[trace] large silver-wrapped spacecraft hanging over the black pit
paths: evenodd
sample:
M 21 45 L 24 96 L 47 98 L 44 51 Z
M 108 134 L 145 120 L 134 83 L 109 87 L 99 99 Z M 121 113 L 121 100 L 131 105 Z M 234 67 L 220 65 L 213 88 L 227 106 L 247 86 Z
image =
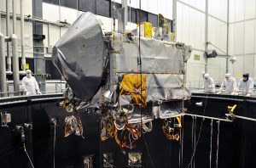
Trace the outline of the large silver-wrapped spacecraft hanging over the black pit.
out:
M 61 105 L 75 112 L 66 120 L 65 136 L 82 135 L 79 111 L 87 111 L 102 115 L 102 140 L 114 137 L 121 148 L 133 147 L 157 118 L 165 120 L 166 137 L 178 140 L 167 134 L 180 128 L 177 117 L 191 96 L 184 65 L 190 53 L 191 47 L 179 42 L 103 32 L 95 14 L 81 14 L 52 54 L 68 84 Z M 130 135 L 133 141 L 128 144 Z

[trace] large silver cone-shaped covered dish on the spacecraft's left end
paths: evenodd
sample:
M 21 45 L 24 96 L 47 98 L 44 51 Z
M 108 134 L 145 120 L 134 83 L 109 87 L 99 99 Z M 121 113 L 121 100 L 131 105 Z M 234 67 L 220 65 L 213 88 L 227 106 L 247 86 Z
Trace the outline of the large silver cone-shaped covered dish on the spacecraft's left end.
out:
M 52 61 L 84 101 L 92 98 L 102 82 L 104 41 L 95 14 L 81 14 L 53 48 Z

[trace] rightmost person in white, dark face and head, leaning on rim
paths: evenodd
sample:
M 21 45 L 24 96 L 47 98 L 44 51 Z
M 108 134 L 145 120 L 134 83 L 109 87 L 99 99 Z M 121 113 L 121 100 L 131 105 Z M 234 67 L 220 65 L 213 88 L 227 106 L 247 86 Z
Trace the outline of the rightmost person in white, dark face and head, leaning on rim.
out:
M 241 90 L 241 95 L 251 97 L 253 94 L 253 87 L 253 78 L 249 77 L 248 73 L 243 74 L 241 80 L 238 82 L 238 89 Z

